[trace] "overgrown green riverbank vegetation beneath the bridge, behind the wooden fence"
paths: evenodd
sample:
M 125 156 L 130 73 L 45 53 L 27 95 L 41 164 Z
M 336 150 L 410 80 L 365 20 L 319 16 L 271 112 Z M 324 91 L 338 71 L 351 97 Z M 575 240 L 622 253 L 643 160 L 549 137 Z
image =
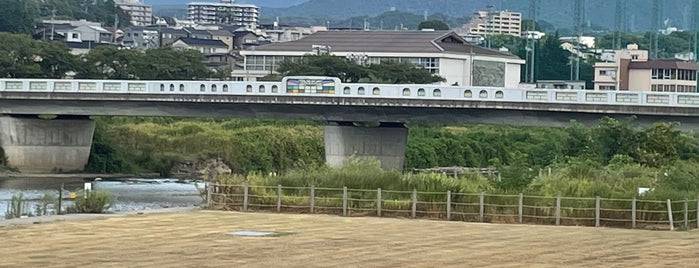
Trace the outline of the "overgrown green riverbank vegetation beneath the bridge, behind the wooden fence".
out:
M 492 176 L 462 174 L 458 182 L 443 176 L 379 173 L 370 162 L 355 162 L 349 169 L 328 169 L 324 166 L 322 125 L 316 122 L 126 117 L 95 120 L 97 129 L 88 165 L 91 172 L 158 171 L 167 175 L 178 161 L 222 158 L 234 173 L 274 172 L 280 177 L 266 180 L 287 186 L 330 183 L 323 178 L 332 177 L 355 181 L 354 187 L 367 189 L 378 184 L 386 188 L 408 183 L 405 185 L 426 188 L 423 191 L 460 187 L 459 192 L 544 196 L 629 198 L 636 195 L 638 187 L 653 188 L 652 196 L 673 200 L 699 194 L 699 145 L 695 135 L 671 123 L 642 128 L 633 118 L 604 118 L 596 126 L 571 123 L 565 128 L 409 126 L 406 171 L 467 166 L 491 167 L 499 172 Z M 360 172 L 367 170 L 370 172 Z

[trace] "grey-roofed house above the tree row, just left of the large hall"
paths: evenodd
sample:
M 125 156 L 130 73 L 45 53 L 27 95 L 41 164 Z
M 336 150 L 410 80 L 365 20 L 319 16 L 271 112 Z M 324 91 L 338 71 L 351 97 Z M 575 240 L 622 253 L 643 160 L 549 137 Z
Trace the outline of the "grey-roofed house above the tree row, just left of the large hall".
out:
M 228 45 L 221 40 L 180 37 L 172 43 L 172 48 L 199 51 L 206 57 L 206 65 L 212 68 L 230 66 L 234 63 Z

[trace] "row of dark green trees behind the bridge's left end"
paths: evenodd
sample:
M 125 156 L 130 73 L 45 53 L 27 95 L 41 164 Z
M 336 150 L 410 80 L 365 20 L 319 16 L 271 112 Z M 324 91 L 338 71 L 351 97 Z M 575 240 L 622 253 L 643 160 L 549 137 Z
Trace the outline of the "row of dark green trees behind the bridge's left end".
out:
M 28 35 L 0 32 L 0 77 L 82 79 L 205 79 L 229 74 L 215 72 L 195 50 L 169 48 L 146 51 L 98 46 L 86 55 L 73 55 L 60 42 L 34 40 Z

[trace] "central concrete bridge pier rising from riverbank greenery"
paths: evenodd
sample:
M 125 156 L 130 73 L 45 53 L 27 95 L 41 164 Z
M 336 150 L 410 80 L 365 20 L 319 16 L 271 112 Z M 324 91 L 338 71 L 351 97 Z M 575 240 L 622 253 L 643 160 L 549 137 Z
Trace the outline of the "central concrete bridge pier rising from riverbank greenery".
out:
M 339 167 L 351 156 L 374 157 L 384 169 L 403 170 L 408 128 L 403 123 L 357 126 L 352 122 L 328 122 L 324 129 L 325 161 Z

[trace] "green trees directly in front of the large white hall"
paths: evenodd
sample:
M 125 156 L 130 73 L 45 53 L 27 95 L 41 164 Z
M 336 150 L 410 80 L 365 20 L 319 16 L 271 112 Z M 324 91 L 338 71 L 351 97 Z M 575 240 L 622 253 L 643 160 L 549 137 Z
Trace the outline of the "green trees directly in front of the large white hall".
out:
M 285 59 L 277 72 L 281 76 L 320 75 L 338 77 L 343 82 L 391 84 L 429 84 L 444 80 L 438 75 L 408 62 L 381 62 L 369 66 L 331 55 L 307 55 L 301 59 Z

